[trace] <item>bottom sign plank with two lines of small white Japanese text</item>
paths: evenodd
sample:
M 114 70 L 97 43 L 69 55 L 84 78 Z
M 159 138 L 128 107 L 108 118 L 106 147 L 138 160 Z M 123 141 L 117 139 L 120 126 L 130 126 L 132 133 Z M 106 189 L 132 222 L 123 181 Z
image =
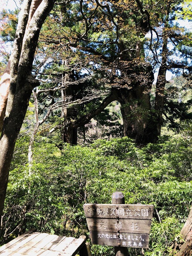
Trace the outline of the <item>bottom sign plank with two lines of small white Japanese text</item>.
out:
M 90 231 L 92 244 L 148 248 L 149 235 Z

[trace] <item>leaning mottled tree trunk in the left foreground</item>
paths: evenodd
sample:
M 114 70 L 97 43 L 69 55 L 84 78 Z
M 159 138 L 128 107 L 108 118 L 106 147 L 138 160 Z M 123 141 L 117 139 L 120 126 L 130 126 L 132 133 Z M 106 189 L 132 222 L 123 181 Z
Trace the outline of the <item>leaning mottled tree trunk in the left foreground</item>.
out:
M 40 29 L 51 11 L 54 2 L 54 0 L 44 0 L 39 5 L 30 21 L 28 30 L 25 31 L 26 35 L 24 36 L 21 52 L 20 54 L 19 52 L 15 53 L 19 56 L 19 61 L 15 61 L 15 63 L 18 62 L 19 64 L 18 68 L 16 64 L 13 65 L 13 69 L 17 69 L 14 100 L 10 114 L 6 120 L 4 120 L 4 128 L 0 138 L 0 216 L 3 212 L 9 168 L 15 142 L 28 108 L 32 90 L 39 84 L 38 81 L 32 77 L 31 70 Z M 19 51 L 18 49 L 20 49 L 19 46 L 15 47 L 13 51 Z

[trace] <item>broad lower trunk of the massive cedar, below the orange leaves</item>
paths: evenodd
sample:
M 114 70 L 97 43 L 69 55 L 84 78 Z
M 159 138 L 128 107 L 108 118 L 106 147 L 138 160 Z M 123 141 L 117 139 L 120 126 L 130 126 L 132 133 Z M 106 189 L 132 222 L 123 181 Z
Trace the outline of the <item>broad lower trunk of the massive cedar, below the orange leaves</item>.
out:
M 149 93 L 136 86 L 134 90 L 119 89 L 118 101 L 121 103 L 124 136 L 140 144 L 154 142 L 153 130 L 150 127 L 151 104 Z

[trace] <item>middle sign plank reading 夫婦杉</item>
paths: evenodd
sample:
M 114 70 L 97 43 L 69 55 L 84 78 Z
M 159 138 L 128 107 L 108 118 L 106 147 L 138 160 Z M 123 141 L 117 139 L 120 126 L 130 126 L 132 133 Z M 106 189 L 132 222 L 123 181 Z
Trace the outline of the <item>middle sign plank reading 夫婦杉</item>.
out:
M 89 231 L 149 234 L 151 220 L 91 219 L 87 218 Z

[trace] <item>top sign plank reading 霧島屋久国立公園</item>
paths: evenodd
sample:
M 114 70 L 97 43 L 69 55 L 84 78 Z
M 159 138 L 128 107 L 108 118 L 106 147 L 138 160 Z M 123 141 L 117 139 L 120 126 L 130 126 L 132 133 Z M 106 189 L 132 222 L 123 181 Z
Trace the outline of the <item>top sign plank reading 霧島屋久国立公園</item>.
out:
M 151 204 L 84 204 L 86 218 L 151 220 Z

